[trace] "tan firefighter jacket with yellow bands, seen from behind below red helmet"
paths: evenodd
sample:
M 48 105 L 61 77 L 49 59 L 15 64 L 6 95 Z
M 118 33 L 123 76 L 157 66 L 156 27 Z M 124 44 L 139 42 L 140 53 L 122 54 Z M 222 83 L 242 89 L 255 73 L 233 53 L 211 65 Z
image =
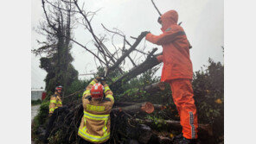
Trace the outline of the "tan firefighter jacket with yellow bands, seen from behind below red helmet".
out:
M 82 97 L 84 116 L 80 122 L 78 135 L 86 141 L 103 143 L 110 137 L 110 112 L 114 103 L 112 91 L 108 85 L 104 85 L 106 97 L 98 101 L 91 97 L 90 89 L 98 81 L 93 81 L 86 87 Z

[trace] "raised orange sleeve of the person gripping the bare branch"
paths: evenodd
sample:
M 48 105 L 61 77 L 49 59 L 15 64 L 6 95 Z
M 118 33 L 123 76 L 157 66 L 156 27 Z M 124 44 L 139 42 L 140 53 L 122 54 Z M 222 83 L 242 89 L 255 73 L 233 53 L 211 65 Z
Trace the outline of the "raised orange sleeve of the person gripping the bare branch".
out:
M 185 34 L 184 31 L 182 31 L 181 28 L 167 28 L 163 34 L 160 35 L 154 35 L 154 34 L 147 34 L 146 35 L 146 40 L 150 41 L 154 44 L 157 45 L 164 45 L 164 44 L 169 44 L 171 41 L 174 41 L 177 36 Z

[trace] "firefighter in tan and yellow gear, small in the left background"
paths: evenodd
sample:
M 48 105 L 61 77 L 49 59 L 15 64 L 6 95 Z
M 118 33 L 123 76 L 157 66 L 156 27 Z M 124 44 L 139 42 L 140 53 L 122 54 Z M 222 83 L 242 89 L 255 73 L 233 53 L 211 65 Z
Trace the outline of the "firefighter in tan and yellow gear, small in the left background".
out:
M 61 85 L 57 86 L 55 88 L 54 95 L 51 96 L 51 99 L 50 99 L 49 116 L 52 116 L 55 109 L 62 107 L 61 92 L 62 92 L 62 86 Z

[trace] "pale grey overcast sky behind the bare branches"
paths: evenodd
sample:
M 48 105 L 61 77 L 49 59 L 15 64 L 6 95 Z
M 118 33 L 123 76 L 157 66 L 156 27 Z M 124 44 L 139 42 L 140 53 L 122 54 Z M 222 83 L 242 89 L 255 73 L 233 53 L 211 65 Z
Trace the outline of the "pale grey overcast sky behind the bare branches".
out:
M 36 40 L 45 40 L 41 34 L 37 34 L 35 29 L 39 22 L 43 21 L 42 1 L 31 1 L 31 49 L 38 48 Z M 161 26 L 157 23 L 157 10 L 153 7 L 150 0 L 83 0 L 86 11 L 95 11 L 97 15 L 93 17 L 92 25 L 95 34 L 106 34 L 106 30 L 102 28 L 103 23 L 106 28 L 118 28 L 127 38 L 130 36 L 137 37 L 143 31 L 150 31 L 152 34 L 161 34 Z M 224 3 L 222 0 L 161 0 L 154 1 L 157 8 L 163 14 L 164 12 L 175 9 L 178 12 L 179 20 L 182 22 L 192 49 L 190 49 L 190 59 L 193 63 L 193 71 L 201 70 L 203 65 L 208 64 L 208 58 L 214 61 L 221 61 L 223 64 L 222 46 L 224 46 Z M 81 5 L 82 3 L 80 3 Z M 78 16 L 79 17 L 79 16 Z M 115 37 L 116 46 L 122 46 L 122 41 Z M 76 25 L 74 29 L 74 39 L 86 45 L 90 49 L 93 47 L 92 36 L 86 32 L 85 28 Z M 134 41 L 128 39 L 131 43 Z M 112 52 L 114 47 L 108 42 L 106 46 Z M 162 52 L 162 47 L 150 44 L 148 41 L 141 41 L 138 49 L 144 49 L 144 52 L 157 47 L 157 53 Z M 79 74 L 95 72 L 96 65 L 93 60 L 93 55 L 86 52 L 80 46 L 73 45 L 71 50 L 74 61 L 72 64 Z M 131 53 L 131 58 L 138 58 L 136 53 Z M 35 57 L 31 54 L 31 88 L 36 89 L 45 87 L 43 79 L 47 72 L 39 68 L 40 57 Z M 138 59 L 138 63 L 144 57 Z M 126 59 L 125 70 L 129 70 L 132 65 Z M 161 75 L 160 68 L 156 75 Z M 90 78 L 91 76 L 80 76 L 80 79 Z

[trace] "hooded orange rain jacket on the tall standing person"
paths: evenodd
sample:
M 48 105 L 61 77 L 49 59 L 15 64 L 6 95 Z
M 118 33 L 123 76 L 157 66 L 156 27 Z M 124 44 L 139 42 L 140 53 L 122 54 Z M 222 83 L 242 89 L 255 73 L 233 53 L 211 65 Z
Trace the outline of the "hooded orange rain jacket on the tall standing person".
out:
M 163 34 L 147 34 L 146 40 L 162 45 L 163 55 L 157 57 L 163 61 L 162 82 L 177 78 L 192 79 L 193 69 L 189 58 L 189 41 L 182 27 L 177 25 L 178 14 L 170 10 L 161 16 Z

